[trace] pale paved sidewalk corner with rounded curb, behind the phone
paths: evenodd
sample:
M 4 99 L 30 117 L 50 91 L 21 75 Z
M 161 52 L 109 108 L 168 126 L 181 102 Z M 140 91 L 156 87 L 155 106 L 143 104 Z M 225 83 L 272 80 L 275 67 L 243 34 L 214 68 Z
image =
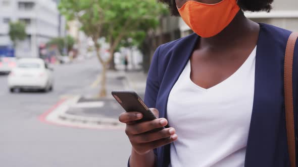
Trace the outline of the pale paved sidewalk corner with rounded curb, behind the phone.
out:
M 100 76 L 91 84 L 90 89 L 78 97 L 66 99 L 64 103 L 46 116 L 45 120 L 66 126 L 80 128 L 124 128 L 118 121 L 124 112 L 111 95 L 113 90 L 134 90 L 144 97 L 146 74 L 142 71 L 108 71 L 107 97 L 96 98 L 100 92 Z

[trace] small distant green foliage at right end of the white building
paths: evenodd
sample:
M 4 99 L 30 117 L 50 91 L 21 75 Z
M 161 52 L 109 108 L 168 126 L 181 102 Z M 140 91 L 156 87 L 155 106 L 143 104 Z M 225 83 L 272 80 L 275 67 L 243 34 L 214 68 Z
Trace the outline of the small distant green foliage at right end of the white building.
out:
M 67 47 L 67 50 L 70 51 L 73 48 L 75 40 L 72 36 L 67 36 L 66 38 L 57 37 L 53 38 L 51 41 L 46 43 L 47 47 L 57 46 L 60 53 L 63 53 L 63 49 Z

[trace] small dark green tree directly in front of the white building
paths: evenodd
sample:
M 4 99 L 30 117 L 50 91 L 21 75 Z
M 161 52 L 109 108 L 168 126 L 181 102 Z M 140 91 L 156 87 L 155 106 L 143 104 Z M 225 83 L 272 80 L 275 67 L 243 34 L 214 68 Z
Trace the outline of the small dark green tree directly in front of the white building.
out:
M 9 36 L 16 47 L 17 41 L 23 41 L 27 37 L 26 25 L 22 22 L 9 23 Z

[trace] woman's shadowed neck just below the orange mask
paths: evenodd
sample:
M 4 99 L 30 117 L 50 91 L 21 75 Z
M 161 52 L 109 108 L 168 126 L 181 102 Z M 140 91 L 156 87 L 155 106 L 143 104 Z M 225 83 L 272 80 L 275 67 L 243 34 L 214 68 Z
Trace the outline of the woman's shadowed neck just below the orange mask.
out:
M 259 24 L 247 19 L 239 11 L 232 22 L 219 34 L 210 38 L 201 38 L 198 48 L 226 49 L 237 46 L 242 39 L 259 33 Z

